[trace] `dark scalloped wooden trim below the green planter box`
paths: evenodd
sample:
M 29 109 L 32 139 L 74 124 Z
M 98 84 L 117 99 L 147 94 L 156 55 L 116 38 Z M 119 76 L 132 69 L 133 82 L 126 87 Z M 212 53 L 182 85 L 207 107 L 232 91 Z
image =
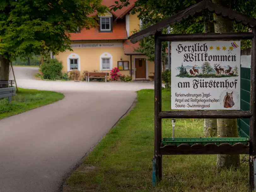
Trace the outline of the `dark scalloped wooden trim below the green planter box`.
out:
M 243 143 L 221 143 L 216 145 L 215 143 L 207 143 L 202 145 L 195 143 L 189 145 L 182 143 L 178 146 L 174 144 L 167 144 L 160 147 L 162 155 L 181 155 L 181 154 L 249 154 L 249 145 Z

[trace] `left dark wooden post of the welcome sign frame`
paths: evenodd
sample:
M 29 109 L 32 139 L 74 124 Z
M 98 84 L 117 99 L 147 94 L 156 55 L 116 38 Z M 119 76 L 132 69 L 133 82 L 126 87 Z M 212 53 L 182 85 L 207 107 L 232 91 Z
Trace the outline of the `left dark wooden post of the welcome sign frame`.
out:
M 154 160 L 156 160 L 156 180 L 162 179 L 162 155 L 160 154 L 160 143 L 162 140 L 162 119 L 159 113 L 162 111 L 162 65 L 161 50 L 162 42 L 158 39 L 161 32 L 155 33 L 155 77 L 154 77 Z M 154 162 L 153 160 L 153 162 Z M 153 166 L 154 167 L 154 166 Z M 154 175 L 153 175 L 154 178 Z M 154 183 L 153 183 L 154 185 Z

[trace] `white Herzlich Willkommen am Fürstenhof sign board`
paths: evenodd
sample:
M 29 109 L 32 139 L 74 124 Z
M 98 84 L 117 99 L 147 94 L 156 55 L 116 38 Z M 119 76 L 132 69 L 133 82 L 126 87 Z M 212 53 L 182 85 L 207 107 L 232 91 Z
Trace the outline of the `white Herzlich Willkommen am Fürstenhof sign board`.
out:
M 172 42 L 172 109 L 240 110 L 240 41 Z

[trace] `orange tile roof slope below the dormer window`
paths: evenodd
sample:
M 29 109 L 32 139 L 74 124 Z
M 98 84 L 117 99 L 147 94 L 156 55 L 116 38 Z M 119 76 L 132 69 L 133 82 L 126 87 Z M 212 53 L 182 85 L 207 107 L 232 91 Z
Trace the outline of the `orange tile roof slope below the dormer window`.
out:
M 124 22 L 113 21 L 113 32 L 99 32 L 98 27 L 89 30 L 81 29 L 80 33 L 70 33 L 70 40 L 124 40 L 127 33 Z

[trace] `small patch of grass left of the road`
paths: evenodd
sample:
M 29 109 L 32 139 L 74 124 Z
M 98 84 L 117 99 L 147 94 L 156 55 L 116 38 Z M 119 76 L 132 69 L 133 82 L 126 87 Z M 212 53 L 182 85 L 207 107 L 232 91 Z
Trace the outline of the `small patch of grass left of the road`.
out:
M 64 98 L 62 93 L 18 88 L 12 102 L 8 98 L 0 100 L 0 119 L 48 105 Z

